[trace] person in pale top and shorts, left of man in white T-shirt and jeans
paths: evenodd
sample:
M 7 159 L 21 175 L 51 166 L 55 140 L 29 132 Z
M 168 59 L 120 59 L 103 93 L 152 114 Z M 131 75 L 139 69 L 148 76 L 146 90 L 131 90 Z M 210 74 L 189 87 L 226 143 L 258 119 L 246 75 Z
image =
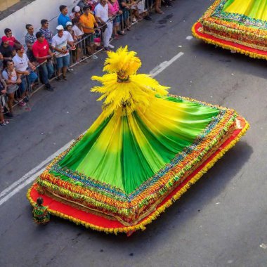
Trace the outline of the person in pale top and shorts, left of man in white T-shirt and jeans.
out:
M 13 102 L 15 91 L 18 90 L 18 84 L 21 83 L 20 74 L 15 72 L 14 63 L 12 60 L 6 60 L 6 68 L 2 72 L 3 78 L 6 81 L 6 94 L 8 96 L 8 109 L 10 117 L 13 117 Z

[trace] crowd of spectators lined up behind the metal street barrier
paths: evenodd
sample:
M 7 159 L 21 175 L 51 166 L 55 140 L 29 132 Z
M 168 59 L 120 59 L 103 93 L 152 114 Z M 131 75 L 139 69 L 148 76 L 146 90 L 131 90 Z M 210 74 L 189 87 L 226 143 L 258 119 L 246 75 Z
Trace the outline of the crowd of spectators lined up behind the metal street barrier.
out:
M 35 33 L 36 25 L 25 25 L 26 53 L 12 30 L 6 28 L 0 45 L 0 126 L 9 123 L 5 117 L 13 117 L 15 103 L 26 105 L 29 92 L 40 81 L 47 91 L 53 91 L 51 77 L 67 80 L 67 71 L 72 72 L 70 63 L 84 62 L 96 53 L 100 44 L 110 51 L 114 48 L 110 44 L 112 35 L 113 39 L 119 39 L 119 35 L 126 34 L 125 30 L 131 30 L 133 22 L 142 18 L 151 20 L 148 8 L 153 4 L 155 12 L 162 14 L 161 1 L 81 0 L 70 14 L 67 6 L 61 5 L 56 34 L 49 29 L 47 19 L 41 20 L 41 27 Z M 164 3 L 170 6 L 170 1 Z

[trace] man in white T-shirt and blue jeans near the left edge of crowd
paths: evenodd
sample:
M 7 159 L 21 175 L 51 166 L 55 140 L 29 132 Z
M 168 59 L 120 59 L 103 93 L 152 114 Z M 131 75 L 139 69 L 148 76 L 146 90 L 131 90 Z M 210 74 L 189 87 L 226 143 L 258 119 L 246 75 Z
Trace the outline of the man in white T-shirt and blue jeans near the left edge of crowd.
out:
M 23 46 L 18 47 L 17 49 L 17 55 L 14 56 L 13 62 L 15 65 L 15 71 L 18 74 L 22 74 L 21 76 L 21 84 L 20 84 L 20 93 L 23 97 L 25 94 L 25 101 L 27 102 L 28 99 L 28 92 L 32 91 L 32 86 L 34 82 L 37 81 L 37 74 L 34 72 L 36 70 L 36 67 L 30 63 L 29 58 L 27 58 L 27 55 L 24 53 Z M 29 88 L 27 88 L 29 86 Z

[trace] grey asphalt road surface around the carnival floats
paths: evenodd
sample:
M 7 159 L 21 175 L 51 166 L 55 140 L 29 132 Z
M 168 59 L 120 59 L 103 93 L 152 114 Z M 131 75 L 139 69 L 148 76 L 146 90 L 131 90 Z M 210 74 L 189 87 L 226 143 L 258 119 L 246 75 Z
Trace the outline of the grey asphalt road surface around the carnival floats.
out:
M 39 227 L 27 185 L 0 206 L 0 266 L 267 266 L 266 61 L 186 39 L 209 0 L 176 0 L 126 37 L 141 72 L 178 58 L 157 75 L 171 93 L 234 108 L 251 124 L 247 135 L 180 200 L 143 232 L 106 235 L 53 217 Z M 90 92 L 105 53 L 80 64 L 68 82 L 39 91 L 30 112 L 0 129 L 0 191 L 79 136 L 101 112 Z

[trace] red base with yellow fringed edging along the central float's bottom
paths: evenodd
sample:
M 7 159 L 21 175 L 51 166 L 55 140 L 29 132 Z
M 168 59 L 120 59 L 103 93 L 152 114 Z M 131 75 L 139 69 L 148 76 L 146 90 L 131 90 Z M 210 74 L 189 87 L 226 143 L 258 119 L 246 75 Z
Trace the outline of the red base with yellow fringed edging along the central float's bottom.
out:
M 183 183 L 178 185 L 172 193 L 170 193 L 165 199 L 159 203 L 155 211 L 152 211 L 148 216 L 146 216 L 142 221 L 136 223 L 133 226 L 123 226 L 119 221 L 113 221 L 105 219 L 103 216 L 97 216 L 91 214 L 90 212 L 82 211 L 80 209 L 74 209 L 73 207 L 57 202 L 51 197 L 42 195 L 44 198 L 44 204 L 48 205 L 48 211 L 50 214 L 61 217 L 63 219 L 70 220 L 77 225 L 83 225 L 86 228 L 91 228 L 93 230 L 103 231 L 105 233 L 133 233 L 136 230 L 145 230 L 145 226 L 151 223 L 153 220 L 157 219 L 162 212 L 171 206 L 178 198 L 185 193 L 191 185 L 197 182 L 200 177 L 205 174 L 218 159 L 223 157 L 223 155 L 232 148 L 237 141 L 245 134 L 247 129 L 249 129 L 249 124 L 242 117 L 237 118 L 240 122 L 241 129 L 235 129 L 232 136 L 228 138 L 221 147 L 214 152 L 200 167 L 198 167 L 193 174 L 190 174 Z M 32 187 L 27 191 L 27 199 L 30 201 L 32 206 L 34 206 L 39 193 L 36 190 L 37 184 L 32 185 Z

